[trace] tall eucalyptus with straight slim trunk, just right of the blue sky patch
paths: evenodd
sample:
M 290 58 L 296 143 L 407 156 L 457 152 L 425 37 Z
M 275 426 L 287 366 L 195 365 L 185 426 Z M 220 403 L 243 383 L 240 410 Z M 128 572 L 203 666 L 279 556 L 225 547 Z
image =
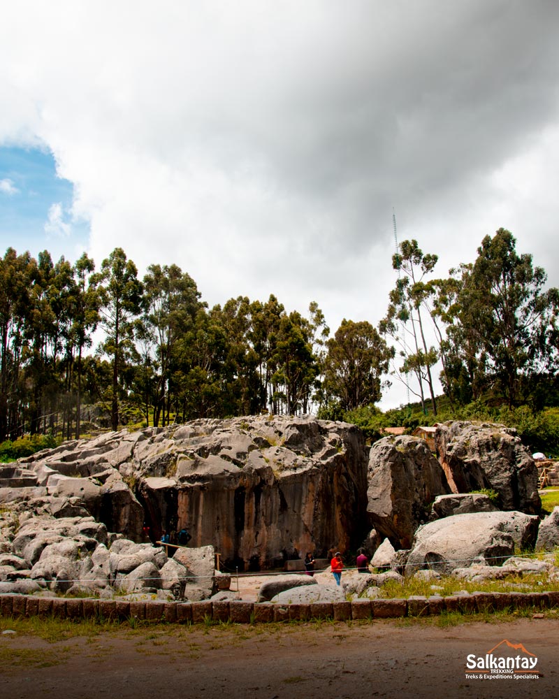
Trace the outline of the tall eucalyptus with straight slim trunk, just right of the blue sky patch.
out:
M 124 370 L 126 356 L 134 351 L 134 320 L 143 306 L 143 284 L 138 280 L 138 270 L 133 261 L 126 258 L 122 247 L 115 247 L 101 263 L 101 271 L 94 275 L 99 284 L 101 298 L 101 325 L 106 339 L 101 350 L 112 361 L 111 426 L 119 423 L 119 376 Z

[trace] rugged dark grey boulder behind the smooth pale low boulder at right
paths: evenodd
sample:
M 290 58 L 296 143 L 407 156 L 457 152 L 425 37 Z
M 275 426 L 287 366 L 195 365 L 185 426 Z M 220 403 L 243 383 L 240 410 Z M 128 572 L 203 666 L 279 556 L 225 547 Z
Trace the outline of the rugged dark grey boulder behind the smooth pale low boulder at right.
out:
M 499 493 L 502 510 L 539 512 L 537 468 L 516 430 L 445 422 L 437 425 L 435 445 L 453 493 L 492 489 Z

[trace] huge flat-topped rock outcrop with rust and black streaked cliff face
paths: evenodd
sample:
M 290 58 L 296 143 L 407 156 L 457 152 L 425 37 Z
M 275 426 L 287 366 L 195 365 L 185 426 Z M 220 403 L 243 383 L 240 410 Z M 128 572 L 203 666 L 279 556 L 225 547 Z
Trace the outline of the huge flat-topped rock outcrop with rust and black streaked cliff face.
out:
M 257 570 L 307 551 L 356 548 L 366 526 L 367 455 L 355 426 L 312 418 L 196 420 L 71 440 L 0 480 L 0 502 L 82 508 L 141 542 L 187 526 L 226 568 Z

